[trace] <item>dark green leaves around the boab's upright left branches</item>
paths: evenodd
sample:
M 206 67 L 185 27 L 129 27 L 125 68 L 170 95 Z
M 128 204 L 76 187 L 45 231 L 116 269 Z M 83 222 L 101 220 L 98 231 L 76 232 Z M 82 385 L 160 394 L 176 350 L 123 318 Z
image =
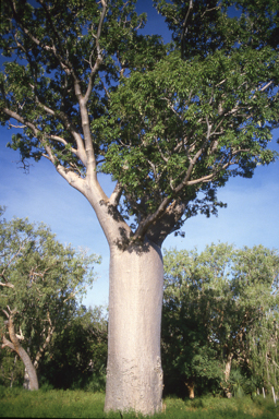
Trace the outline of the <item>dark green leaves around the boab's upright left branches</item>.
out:
M 33 122 L 25 128 L 24 136 L 13 137 L 12 146 L 21 148 L 23 158 L 35 159 L 50 146 L 53 163 L 74 167 L 80 173 L 83 164 L 72 148 L 77 133 L 82 134 L 74 83 L 78 80 L 80 95 L 85 94 L 94 77 L 87 105 L 89 118 L 98 118 L 108 106 L 104 83 L 116 84 L 128 67 L 144 63 L 148 68 L 162 47 L 156 36 L 136 35 L 135 28 L 144 25 L 146 16 L 135 14 L 134 1 L 112 1 L 107 13 L 96 1 L 37 3 L 34 8 L 28 2 L 11 1 L 1 11 L 3 55 L 20 58 L 20 62 L 5 63 L 3 106 L 9 104 L 10 111 L 20 110 L 21 118 Z M 97 68 L 99 74 L 95 74 Z M 96 153 L 98 147 L 96 144 Z

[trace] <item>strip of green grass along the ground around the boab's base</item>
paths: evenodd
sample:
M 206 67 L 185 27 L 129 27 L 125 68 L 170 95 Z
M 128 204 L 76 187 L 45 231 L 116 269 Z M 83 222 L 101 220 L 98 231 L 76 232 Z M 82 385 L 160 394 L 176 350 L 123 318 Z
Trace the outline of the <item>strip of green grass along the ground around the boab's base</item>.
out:
M 104 393 L 84 391 L 39 390 L 0 387 L 0 417 L 17 418 L 107 418 L 121 419 L 120 414 L 104 414 Z M 241 399 L 199 397 L 182 400 L 175 397 L 165 399 L 166 411 L 154 419 L 279 419 L 279 406 L 272 399 L 258 396 Z M 141 418 L 141 415 L 125 414 L 123 419 Z

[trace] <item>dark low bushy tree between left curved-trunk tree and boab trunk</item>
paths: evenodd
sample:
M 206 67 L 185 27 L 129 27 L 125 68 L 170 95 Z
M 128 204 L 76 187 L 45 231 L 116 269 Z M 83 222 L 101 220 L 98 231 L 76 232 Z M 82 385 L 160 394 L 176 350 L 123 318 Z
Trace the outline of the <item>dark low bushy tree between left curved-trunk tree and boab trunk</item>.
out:
M 81 307 L 41 361 L 43 380 L 57 388 L 105 391 L 108 322 L 102 308 Z

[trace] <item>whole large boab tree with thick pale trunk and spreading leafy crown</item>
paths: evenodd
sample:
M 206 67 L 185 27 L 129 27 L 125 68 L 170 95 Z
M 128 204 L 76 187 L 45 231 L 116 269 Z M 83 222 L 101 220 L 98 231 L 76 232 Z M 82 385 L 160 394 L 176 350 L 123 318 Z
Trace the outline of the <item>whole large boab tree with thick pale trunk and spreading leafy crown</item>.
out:
M 161 408 L 165 238 L 218 205 L 230 176 L 275 159 L 276 1 L 158 0 L 174 43 L 138 31 L 135 0 L 2 4 L 2 122 L 92 204 L 110 247 L 106 410 Z M 230 17 L 229 8 L 239 8 Z M 12 60 L 11 60 L 12 58 Z M 112 176 L 110 196 L 98 171 Z

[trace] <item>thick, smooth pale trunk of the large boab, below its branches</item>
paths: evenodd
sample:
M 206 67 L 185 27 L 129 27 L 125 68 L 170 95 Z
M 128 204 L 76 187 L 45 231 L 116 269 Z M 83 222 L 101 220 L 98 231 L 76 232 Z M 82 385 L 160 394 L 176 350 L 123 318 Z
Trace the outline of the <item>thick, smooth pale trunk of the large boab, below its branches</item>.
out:
M 106 411 L 161 411 L 162 286 L 158 247 L 111 247 Z

